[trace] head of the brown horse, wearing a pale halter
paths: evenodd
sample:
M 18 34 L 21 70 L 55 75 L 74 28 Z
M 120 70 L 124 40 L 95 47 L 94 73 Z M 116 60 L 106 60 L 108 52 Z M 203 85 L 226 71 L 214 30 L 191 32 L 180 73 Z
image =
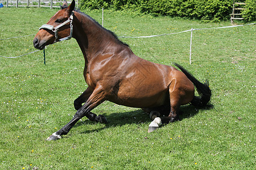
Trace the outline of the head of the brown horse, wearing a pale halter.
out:
M 37 49 L 44 49 L 46 45 L 53 44 L 57 41 L 69 40 L 73 32 L 73 10 L 75 8 L 75 1 L 71 5 L 64 1 L 61 10 L 59 10 L 47 24 L 39 28 L 38 33 L 34 38 L 34 46 Z

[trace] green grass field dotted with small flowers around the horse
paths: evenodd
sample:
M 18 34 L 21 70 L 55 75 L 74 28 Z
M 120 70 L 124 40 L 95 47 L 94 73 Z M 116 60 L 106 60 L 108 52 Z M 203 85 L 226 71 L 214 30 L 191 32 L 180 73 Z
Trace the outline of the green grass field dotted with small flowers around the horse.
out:
M 0 39 L 31 35 L 57 10 L 1 8 Z M 101 23 L 100 11 L 84 11 Z M 135 16 L 105 11 L 104 26 L 118 36 L 146 36 L 213 28 L 230 22 Z M 58 141 L 45 141 L 71 120 L 73 100 L 86 88 L 84 58 L 75 39 L 20 58 L 0 57 L 0 169 L 255 169 L 256 25 L 150 39 L 122 39 L 137 56 L 177 62 L 209 79 L 213 108 L 181 107 L 180 121 L 148 134 L 138 108 L 105 101 L 93 110 L 109 124 L 82 118 Z M 32 52 L 34 36 L 0 40 L 0 56 Z

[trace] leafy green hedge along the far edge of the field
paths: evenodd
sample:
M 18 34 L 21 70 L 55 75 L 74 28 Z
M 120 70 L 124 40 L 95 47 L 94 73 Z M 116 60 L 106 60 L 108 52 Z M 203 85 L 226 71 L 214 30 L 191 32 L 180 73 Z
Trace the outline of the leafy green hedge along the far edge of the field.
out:
M 244 1 L 240 1 L 244 2 Z M 246 20 L 255 20 L 255 0 L 246 0 Z M 135 10 L 142 14 L 168 15 L 180 18 L 212 20 L 229 20 L 233 0 L 81 0 L 80 8 Z

